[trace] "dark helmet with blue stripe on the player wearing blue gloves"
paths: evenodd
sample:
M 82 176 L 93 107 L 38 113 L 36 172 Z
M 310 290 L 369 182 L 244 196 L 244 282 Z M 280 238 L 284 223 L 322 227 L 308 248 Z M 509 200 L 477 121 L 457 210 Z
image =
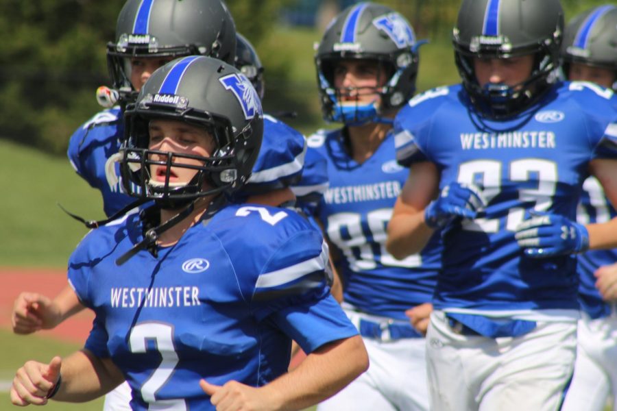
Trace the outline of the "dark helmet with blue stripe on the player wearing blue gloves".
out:
M 452 31 L 455 62 L 463 86 L 480 114 L 491 118 L 525 110 L 547 88 L 559 66 L 564 11 L 559 0 L 463 0 Z M 481 87 L 474 58 L 534 55 L 532 73 L 516 86 Z

